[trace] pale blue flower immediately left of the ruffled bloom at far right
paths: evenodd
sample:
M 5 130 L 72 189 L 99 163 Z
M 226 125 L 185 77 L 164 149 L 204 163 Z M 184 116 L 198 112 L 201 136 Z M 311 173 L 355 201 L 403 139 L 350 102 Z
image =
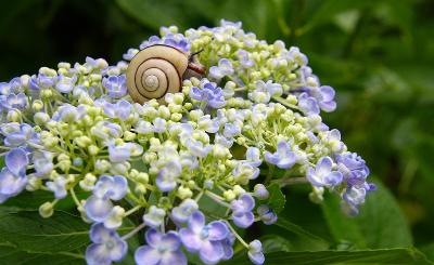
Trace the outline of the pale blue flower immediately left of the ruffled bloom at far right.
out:
M 342 183 L 343 175 L 339 171 L 332 171 L 333 160 L 330 157 L 321 157 L 316 168 L 307 169 L 306 177 L 316 187 L 334 187 Z

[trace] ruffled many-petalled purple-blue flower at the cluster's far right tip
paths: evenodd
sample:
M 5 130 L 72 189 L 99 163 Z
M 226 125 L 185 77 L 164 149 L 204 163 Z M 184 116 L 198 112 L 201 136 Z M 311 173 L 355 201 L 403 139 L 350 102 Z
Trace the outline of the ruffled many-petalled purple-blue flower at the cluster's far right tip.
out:
M 336 156 L 337 170 L 349 185 L 360 185 L 369 175 L 365 160 L 356 153 L 345 153 Z

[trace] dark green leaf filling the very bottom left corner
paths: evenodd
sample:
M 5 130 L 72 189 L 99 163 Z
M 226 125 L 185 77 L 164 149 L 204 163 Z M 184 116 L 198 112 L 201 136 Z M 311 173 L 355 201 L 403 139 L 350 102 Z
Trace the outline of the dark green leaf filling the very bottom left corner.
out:
M 0 261 L 3 265 L 84 265 L 85 261 L 74 253 L 29 253 L 13 246 L 0 244 Z

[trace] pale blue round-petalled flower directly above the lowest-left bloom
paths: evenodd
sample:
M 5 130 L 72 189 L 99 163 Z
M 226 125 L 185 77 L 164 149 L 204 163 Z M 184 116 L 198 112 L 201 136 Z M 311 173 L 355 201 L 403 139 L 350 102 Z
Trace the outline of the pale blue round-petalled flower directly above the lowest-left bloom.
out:
M 93 187 L 93 195 L 85 203 L 88 217 L 94 222 L 103 223 L 113 209 L 111 200 L 120 200 L 128 190 L 128 183 L 124 176 L 102 175 Z

